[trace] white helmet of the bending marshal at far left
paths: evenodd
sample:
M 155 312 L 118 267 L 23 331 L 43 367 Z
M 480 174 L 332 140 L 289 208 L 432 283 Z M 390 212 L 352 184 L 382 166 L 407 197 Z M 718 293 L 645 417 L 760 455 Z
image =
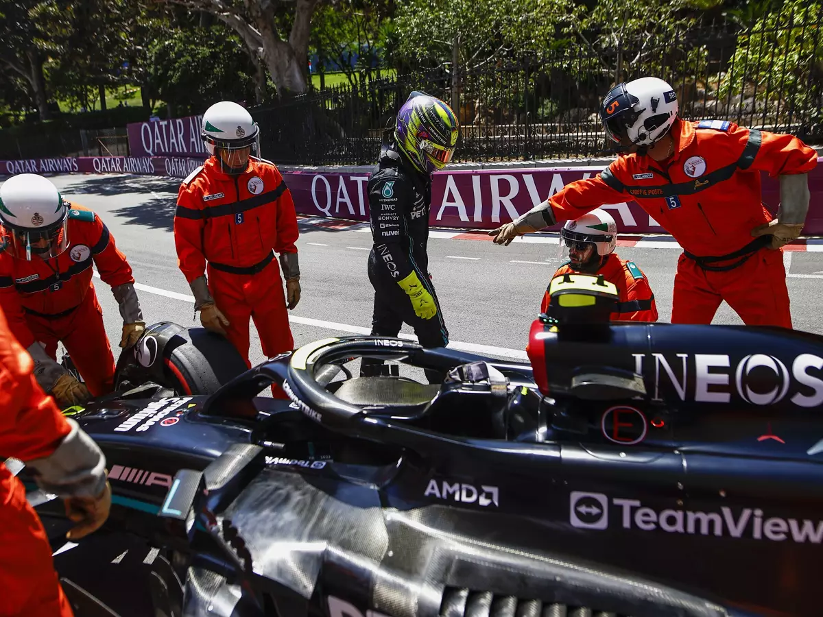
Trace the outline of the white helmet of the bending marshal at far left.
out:
M 68 203 L 41 175 L 19 174 L 2 184 L 0 224 L 14 257 L 57 257 L 68 248 Z

